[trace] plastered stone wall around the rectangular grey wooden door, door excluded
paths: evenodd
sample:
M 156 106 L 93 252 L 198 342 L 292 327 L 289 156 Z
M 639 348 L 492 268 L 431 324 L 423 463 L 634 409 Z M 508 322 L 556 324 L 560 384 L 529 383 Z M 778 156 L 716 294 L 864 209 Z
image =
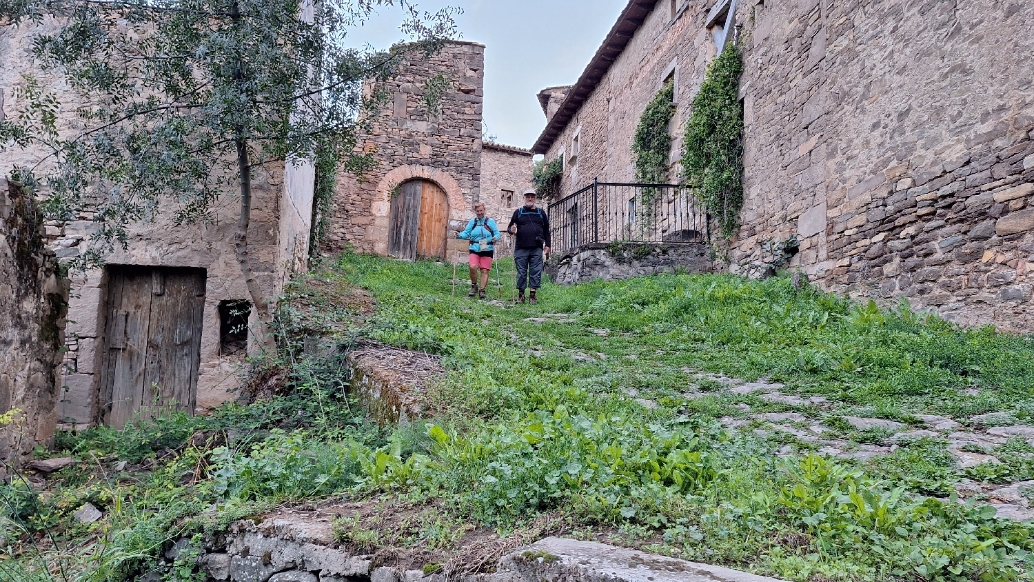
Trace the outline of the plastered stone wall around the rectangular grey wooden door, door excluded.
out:
M 40 26 L 0 28 L 0 54 L 10 58 L 0 63 L 0 90 L 7 115 L 24 103 L 14 97 L 24 83 L 23 75 L 33 72 L 49 90 L 60 96 L 59 130 L 63 135 L 81 130 L 75 115 L 77 93 L 58 76 L 38 72 L 33 62 L 31 43 L 41 33 L 53 33 L 57 25 L 43 19 Z M 0 151 L 0 175 L 6 176 L 17 165 L 33 165 L 45 152 L 36 148 L 8 147 Z M 45 165 L 41 166 L 45 173 Z M 308 163 L 271 163 L 252 171 L 253 200 L 248 242 L 256 280 L 274 299 L 285 281 L 306 269 L 309 227 L 312 215 L 314 173 Z M 45 192 L 40 192 L 45 193 Z M 234 250 L 234 232 L 240 197 L 231 191 L 212 205 L 211 221 L 204 224 L 177 225 L 172 215 L 176 203 L 159 202 L 153 221 L 132 224 L 125 248 L 117 248 L 104 257 L 107 265 L 152 267 L 193 267 L 206 270 L 206 297 L 202 330 L 201 363 L 196 407 L 204 412 L 238 397 L 243 355 L 223 355 L 220 346 L 218 306 L 222 301 L 251 300 Z M 44 234 L 48 245 L 59 261 L 80 256 L 91 244 L 98 225 L 96 207 L 87 205 L 71 220 L 48 220 Z M 58 403 L 58 419 L 67 426 L 84 427 L 97 421 L 104 405 L 98 401 L 99 372 L 103 362 L 102 335 L 108 293 L 104 269 L 72 273 L 67 351 L 64 359 L 63 391 Z M 249 350 L 255 349 L 253 334 Z

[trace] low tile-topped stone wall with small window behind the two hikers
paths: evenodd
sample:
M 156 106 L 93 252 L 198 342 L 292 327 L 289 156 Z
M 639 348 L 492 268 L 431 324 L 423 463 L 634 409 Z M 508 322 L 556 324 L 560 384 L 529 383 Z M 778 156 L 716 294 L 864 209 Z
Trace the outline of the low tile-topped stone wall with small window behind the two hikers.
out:
M 531 152 L 486 143 L 481 152 L 481 202 L 485 211 L 506 231 L 515 210 L 524 204 L 523 192 L 531 188 Z M 503 235 L 495 256 L 513 254 L 510 235 Z

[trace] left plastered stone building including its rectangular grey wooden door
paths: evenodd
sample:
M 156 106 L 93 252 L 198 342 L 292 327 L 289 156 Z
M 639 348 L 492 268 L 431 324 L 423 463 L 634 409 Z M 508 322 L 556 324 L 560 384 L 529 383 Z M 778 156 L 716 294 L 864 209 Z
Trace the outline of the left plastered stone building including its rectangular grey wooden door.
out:
M 31 54 L 33 37 L 54 26 L 44 19 L 40 26 L 0 28 L 6 57 L 0 63 L 6 98 L 0 102 L 8 114 L 18 111 L 16 90 L 33 71 L 60 95 L 59 125 L 68 134 L 78 130 L 75 93 L 59 76 L 33 68 Z M 43 154 L 0 150 L 0 174 L 32 165 Z M 253 170 L 249 251 L 268 298 L 306 268 L 313 184 L 310 164 Z M 248 333 L 251 297 L 234 247 L 239 200 L 227 192 L 212 205 L 210 222 L 183 225 L 173 222 L 174 203 L 162 201 L 153 221 L 130 225 L 126 247 L 105 256 L 103 269 L 72 274 L 59 422 L 121 426 L 155 408 L 204 411 L 238 398 L 241 363 L 257 346 Z M 87 206 L 72 220 L 44 222 L 59 261 L 85 252 L 98 227 L 94 217 Z

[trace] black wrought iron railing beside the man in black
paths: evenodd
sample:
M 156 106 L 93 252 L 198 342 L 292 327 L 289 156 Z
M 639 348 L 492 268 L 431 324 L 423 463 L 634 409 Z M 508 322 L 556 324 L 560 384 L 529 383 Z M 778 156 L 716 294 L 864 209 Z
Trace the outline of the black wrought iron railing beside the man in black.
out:
M 549 205 L 552 251 L 589 243 L 710 241 L 710 217 L 677 184 L 594 182 Z

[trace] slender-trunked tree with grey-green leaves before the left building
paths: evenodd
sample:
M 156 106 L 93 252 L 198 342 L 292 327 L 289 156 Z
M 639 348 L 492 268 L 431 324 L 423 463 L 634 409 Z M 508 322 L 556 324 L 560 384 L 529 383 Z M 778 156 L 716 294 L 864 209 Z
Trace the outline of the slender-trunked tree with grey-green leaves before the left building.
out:
M 403 10 L 409 41 L 349 47 L 349 32 L 386 6 Z M 383 98 L 364 82 L 392 75 L 407 53 L 439 50 L 455 12 L 420 12 L 409 0 L 0 0 L 0 25 L 47 25 L 33 57 L 79 109 L 69 135 L 64 95 L 26 75 L 0 147 L 44 152 L 10 177 L 45 192 L 51 216 L 96 213 L 81 267 L 125 246 L 131 223 L 162 211 L 176 223 L 208 221 L 220 196 L 239 191 L 236 256 L 272 349 L 271 298 L 248 254 L 253 169 L 306 160 L 322 188 L 334 169 L 362 173 L 371 159 L 357 152 L 358 134 Z

